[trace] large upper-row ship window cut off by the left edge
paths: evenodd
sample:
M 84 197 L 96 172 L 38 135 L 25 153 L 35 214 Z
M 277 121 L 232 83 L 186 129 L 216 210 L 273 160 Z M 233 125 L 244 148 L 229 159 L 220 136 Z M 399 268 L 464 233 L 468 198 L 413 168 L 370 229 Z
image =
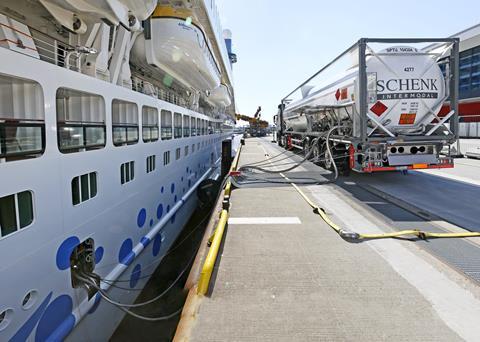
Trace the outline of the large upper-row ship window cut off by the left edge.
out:
M 38 83 L 0 75 L 0 163 L 43 154 L 44 107 Z

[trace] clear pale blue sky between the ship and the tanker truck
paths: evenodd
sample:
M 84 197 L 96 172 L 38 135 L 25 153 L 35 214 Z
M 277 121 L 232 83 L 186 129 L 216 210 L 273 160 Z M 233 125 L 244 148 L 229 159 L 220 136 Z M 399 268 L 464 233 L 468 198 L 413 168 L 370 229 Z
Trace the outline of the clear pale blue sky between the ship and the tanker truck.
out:
M 237 113 L 271 122 L 280 100 L 362 37 L 448 37 L 480 23 L 479 0 L 216 0 L 232 31 Z

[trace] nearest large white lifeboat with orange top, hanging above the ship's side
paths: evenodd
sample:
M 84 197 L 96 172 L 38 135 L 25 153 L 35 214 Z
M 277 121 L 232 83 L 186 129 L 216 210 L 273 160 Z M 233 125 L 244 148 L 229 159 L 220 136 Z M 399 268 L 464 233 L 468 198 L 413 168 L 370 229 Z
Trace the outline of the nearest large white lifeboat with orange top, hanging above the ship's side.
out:
M 220 69 L 202 26 L 186 8 L 157 6 L 133 47 L 143 60 L 198 91 L 220 86 Z

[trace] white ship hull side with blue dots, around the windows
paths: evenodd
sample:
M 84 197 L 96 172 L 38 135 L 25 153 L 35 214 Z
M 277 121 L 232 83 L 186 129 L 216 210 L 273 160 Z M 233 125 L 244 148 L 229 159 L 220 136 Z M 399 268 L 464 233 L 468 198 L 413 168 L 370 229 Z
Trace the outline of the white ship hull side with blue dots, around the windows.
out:
M 142 288 L 148 281 L 142 276 L 153 273 L 193 212 L 195 189 L 211 174 L 220 157 L 221 141 L 230 133 L 117 147 L 112 143 L 112 130 L 107 128 L 104 148 L 64 154 L 57 142 L 59 88 L 102 96 L 106 127 L 112 125 L 114 99 L 136 103 L 138 108 L 147 105 L 159 111 L 208 117 L 7 49 L 0 49 L 0 60 L 0 74 L 41 86 L 46 137 L 40 157 L 0 164 L 0 197 L 30 190 L 35 213 L 31 225 L 0 239 L 0 312 L 7 309 L 0 323 L 0 340 L 107 340 L 124 314 L 100 300 L 99 294 L 89 300 L 85 289 L 72 288 L 70 269 L 65 268 L 72 246 L 93 238 L 98 259 L 95 272 L 105 279 L 127 280 L 127 287 Z M 190 154 L 185 157 L 187 145 Z M 196 146 L 193 153 L 192 145 Z M 177 148 L 182 149 L 179 160 L 175 160 Z M 167 166 L 160 159 L 164 151 L 172 151 Z M 157 156 L 157 169 L 145 173 L 145 158 L 150 155 Z M 135 179 L 121 185 L 120 165 L 130 160 L 137 165 Z M 98 175 L 97 196 L 73 206 L 72 179 L 93 171 Z M 137 281 L 132 270 L 138 267 L 141 276 Z M 31 306 L 22 307 L 29 292 L 33 294 Z M 133 302 L 138 292 L 111 288 L 109 294 L 122 302 Z

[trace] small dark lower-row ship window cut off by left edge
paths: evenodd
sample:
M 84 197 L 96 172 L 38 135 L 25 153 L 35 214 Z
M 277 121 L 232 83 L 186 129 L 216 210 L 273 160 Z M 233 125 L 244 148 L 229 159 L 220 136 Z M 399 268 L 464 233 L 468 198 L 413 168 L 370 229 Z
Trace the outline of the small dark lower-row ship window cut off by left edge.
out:
M 33 199 L 30 191 L 0 197 L 0 236 L 7 236 L 33 222 Z

